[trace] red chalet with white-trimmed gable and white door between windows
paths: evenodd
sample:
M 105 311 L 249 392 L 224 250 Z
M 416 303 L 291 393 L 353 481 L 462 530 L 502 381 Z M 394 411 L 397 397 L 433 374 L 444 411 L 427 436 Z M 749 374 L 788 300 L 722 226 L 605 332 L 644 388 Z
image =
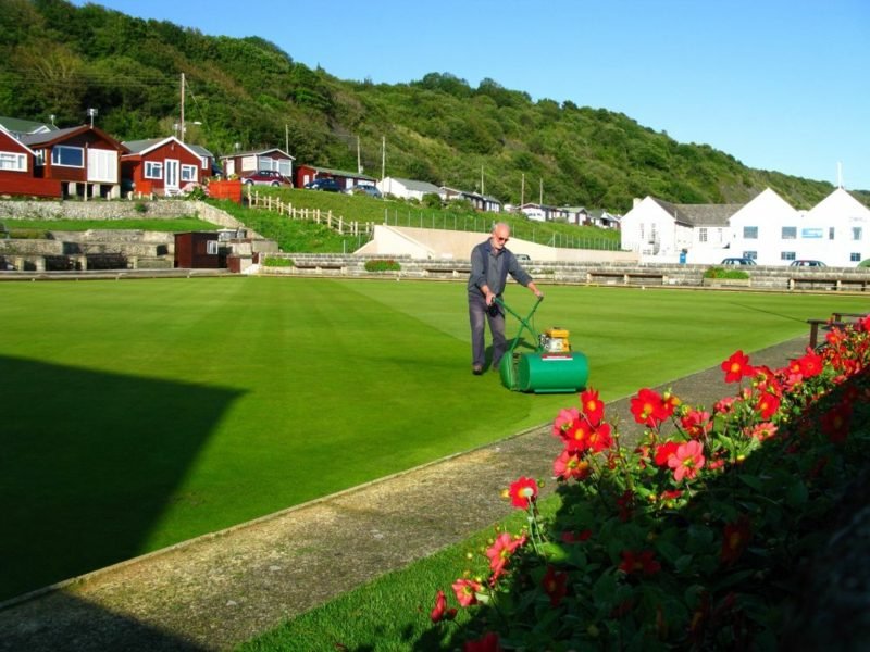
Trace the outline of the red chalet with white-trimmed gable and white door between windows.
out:
M 190 184 L 202 181 L 202 156 L 175 136 L 130 140 L 122 145 L 129 153 L 121 156 L 121 175 L 135 192 L 176 195 Z

